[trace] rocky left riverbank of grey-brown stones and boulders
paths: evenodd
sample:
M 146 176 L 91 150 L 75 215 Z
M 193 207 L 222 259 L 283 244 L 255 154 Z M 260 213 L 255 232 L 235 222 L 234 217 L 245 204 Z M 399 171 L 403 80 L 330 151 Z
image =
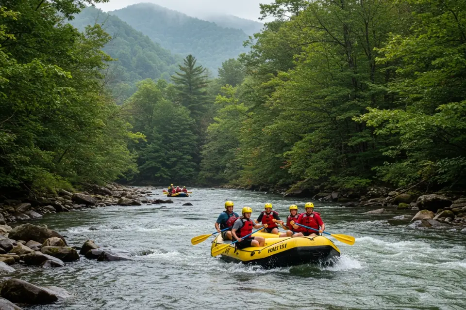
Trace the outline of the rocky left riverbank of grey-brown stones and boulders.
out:
M 83 208 L 173 203 L 171 200 L 147 199 L 155 189 L 151 186 L 89 185 L 83 192 L 57 189 L 57 195 L 42 194 L 0 202 L 0 273 L 8 278 L 17 264 L 32 268 L 59 268 L 83 257 L 100 262 L 132 260 L 133 254 L 129 251 L 100 248 L 92 240 L 83 245 L 68 245 L 64 236 L 46 225 L 18 225 L 17 221 L 25 222 L 49 213 Z M 21 279 L 6 279 L 0 284 L 0 309 L 18 310 L 21 309 L 18 305 L 49 304 L 69 296 L 67 291 L 55 286 L 38 287 Z

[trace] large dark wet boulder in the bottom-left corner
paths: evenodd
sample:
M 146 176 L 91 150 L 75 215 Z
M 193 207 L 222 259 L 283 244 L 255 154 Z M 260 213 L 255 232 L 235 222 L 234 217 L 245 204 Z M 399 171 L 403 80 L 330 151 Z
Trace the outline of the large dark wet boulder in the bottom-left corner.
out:
M 20 279 L 3 282 L 0 295 L 11 302 L 30 305 L 51 304 L 58 300 L 55 294 Z

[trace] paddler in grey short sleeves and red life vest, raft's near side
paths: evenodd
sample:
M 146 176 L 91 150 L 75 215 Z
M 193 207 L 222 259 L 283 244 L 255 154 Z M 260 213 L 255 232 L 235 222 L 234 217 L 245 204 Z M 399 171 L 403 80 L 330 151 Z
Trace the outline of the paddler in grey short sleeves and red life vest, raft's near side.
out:
M 248 248 L 248 247 L 264 247 L 266 239 L 264 237 L 253 237 L 249 236 L 244 238 L 248 234 L 252 233 L 252 228 L 259 229 L 261 227 L 267 228 L 267 224 L 258 225 L 251 220 L 252 209 L 250 207 L 244 207 L 241 210 L 242 217 L 238 217 L 233 224 L 232 235 L 238 242 L 236 243 L 237 248 Z M 244 239 L 243 239 L 244 238 Z

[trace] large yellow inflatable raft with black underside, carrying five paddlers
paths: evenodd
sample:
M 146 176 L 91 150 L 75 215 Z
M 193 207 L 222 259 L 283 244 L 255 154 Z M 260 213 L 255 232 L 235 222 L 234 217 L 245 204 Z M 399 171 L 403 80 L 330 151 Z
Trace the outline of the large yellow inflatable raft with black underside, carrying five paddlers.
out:
M 340 250 L 323 236 L 280 238 L 278 234 L 262 232 L 253 236 L 264 237 L 265 246 L 237 249 L 233 244 L 220 254 L 222 259 L 274 268 L 305 263 L 332 264 L 333 258 L 340 256 Z M 224 241 L 220 234 L 212 242 L 212 248 L 231 242 Z

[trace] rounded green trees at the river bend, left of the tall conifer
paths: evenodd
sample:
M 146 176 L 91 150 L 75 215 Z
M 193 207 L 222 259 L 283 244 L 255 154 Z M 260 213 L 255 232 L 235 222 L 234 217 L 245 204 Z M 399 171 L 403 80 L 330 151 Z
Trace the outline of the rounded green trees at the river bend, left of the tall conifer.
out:
M 132 145 L 138 154 L 137 180 L 192 181 L 198 171 L 193 160 L 197 139 L 189 111 L 167 100 L 172 90 L 165 80 L 147 79 L 137 87 L 129 99 L 131 123 L 146 136 L 146 141 Z

